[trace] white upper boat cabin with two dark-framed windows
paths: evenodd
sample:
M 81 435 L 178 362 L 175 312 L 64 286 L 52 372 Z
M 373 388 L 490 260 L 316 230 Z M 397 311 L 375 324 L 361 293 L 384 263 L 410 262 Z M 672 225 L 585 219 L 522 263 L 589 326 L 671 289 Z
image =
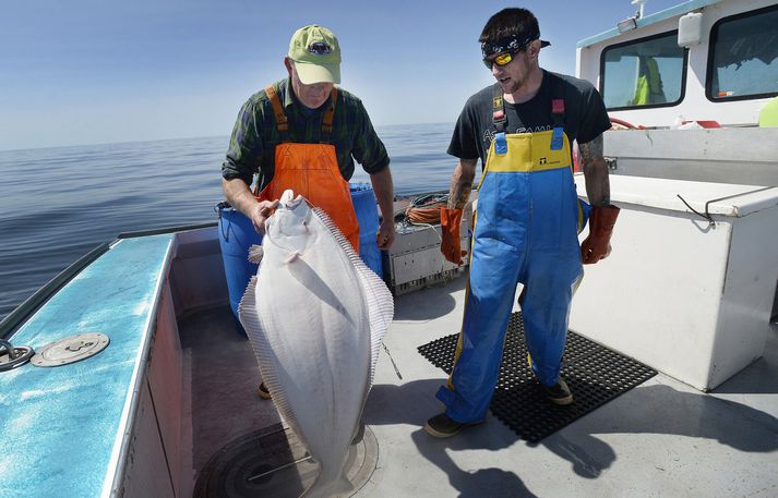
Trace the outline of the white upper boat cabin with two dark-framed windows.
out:
M 580 40 L 576 72 L 612 118 L 635 126 L 755 126 L 778 96 L 778 4 L 692 0 L 638 12 Z

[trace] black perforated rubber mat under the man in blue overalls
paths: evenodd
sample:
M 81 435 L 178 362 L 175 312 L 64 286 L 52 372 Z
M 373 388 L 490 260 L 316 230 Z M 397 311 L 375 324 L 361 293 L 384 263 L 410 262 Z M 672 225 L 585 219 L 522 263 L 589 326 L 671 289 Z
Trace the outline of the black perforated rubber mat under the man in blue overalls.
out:
M 419 347 L 419 353 L 451 374 L 458 335 Z M 511 315 L 500 377 L 490 409 L 522 439 L 539 442 L 574 420 L 657 375 L 656 371 L 593 342 L 573 331 L 562 359 L 562 376 L 575 402 L 551 403 L 540 390 L 527 364 L 527 347 L 520 313 Z

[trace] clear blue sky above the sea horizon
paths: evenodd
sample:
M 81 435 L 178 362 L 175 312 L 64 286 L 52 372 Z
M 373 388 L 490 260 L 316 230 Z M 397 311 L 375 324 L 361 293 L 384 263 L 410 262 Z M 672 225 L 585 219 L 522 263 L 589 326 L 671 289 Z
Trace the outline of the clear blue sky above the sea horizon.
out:
M 651 0 L 646 13 L 679 3 Z M 541 65 L 574 74 L 575 44 L 630 0 L 20 0 L 0 13 L 0 150 L 228 135 L 241 104 L 285 76 L 300 26 L 343 49 L 342 86 L 373 123 L 453 122 L 491 83 L 477 42 L 491 14 L 540 21 Z

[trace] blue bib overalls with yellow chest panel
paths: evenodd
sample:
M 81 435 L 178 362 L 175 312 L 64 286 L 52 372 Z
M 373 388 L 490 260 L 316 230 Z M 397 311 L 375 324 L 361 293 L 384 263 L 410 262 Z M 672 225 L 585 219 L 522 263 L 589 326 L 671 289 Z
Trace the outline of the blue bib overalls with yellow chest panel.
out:
M 547 386 L 559 379 L 589 206 L 576 195 L 567 137 L 554 133 L 498 134 L 490 146 L 454 371 L 438 392 L 457 422 L 486 416 L 519 282 L 532 372 Z

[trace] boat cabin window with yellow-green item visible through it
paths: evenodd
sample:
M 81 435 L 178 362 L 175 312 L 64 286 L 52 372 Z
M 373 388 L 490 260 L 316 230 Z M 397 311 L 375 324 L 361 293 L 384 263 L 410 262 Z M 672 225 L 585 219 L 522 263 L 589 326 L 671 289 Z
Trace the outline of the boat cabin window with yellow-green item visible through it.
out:
M 674 106 L 683 99 L 687 50 L 678 31 L 602 50 L 600 94 L 608 110 Z

